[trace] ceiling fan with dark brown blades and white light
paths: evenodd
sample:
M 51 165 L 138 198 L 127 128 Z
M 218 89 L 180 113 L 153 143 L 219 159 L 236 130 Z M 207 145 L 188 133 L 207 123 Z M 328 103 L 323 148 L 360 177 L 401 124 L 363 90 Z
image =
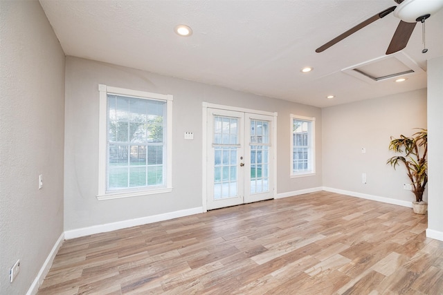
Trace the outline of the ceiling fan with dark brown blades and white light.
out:
M 350 30 L 343 32 L 343 34 L 335 37 L 331 41 L 326 44 L 320 46 L 316 49 L 316 53 L 321 53 L 323 50 L 333 46 L 339 41 L 345 39 L 346 37 L 354 34 L 354 32 L 368 26 L 370 23 L 377 21 L 377 19 L 381 19 L 389 15 L 391 12 L 394 12 L 394 16 L 400 19 L 399 26 L 397 26 L 397 30 L 395 30 L 394 36 L 390 41 L 388 46 L 388 50 L 386 50 L 386 55 L 390 55 L 391 53 L 396 53 L 397 51 L 406 47 L 408 44 L 410 35 L 412 35 L 415 25 L 418 21 L 422 22 L 424 25 L 425 19 L 433 15 L 435 12 L 440 10 L 443 7 L 443 0 L 394 0 L 398 6 L 392 6 L 387 8 L 377 15 L 366 19 L 365 21 L 359 23 L 354 26 Z M 424 48 L 422 53 L 426 53 L 427 49 Z

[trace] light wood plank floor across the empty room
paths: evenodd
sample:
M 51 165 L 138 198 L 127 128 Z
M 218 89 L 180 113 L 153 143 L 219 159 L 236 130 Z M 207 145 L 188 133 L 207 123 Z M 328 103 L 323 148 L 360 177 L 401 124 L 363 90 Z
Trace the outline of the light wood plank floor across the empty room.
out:
M 66 240 L 38 294 L 443 294 L 412 209 L 325 191 Z

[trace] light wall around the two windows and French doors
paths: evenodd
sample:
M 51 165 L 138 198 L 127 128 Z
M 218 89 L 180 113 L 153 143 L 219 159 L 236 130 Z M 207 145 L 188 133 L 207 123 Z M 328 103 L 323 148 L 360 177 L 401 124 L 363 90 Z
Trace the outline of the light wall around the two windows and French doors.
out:
M 172 193 L 98 201 L 98 84 L 174 95 Z M 321 186 L 321 110 L 280 99 L 66 57 L 64 229 L 202 207 L 202 102 L 278 112 L 278 193 Z M 317 118 L 317 175 L 289 178 L 289 114 Z M 184 140 L 185 131 L 194 140 Z

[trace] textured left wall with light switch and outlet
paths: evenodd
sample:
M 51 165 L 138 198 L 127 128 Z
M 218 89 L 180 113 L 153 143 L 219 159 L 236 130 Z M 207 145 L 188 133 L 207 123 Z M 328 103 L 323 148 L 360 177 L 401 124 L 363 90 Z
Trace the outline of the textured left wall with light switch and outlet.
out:
M 26 294 L 63 233 L 64 53 L 38 1 L 0 11 L 0 294 Z

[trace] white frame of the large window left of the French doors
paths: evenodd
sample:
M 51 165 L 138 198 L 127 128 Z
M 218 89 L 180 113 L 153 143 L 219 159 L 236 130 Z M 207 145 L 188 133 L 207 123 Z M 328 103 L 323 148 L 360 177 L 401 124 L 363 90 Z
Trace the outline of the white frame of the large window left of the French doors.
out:
M 116 198 L 128 198 L 135 196 L 146 196 L 156 193 L 168 193 L 172 191 L 172 95 L 164 95 L 159 93 L 149 93 L 146 91 L 136 91 L 126 88 L 118 88 L 98 84 L 100 93 L 100 109 L 99 109 L 99 135 L 98 135 L 98 200 L 110 200 Z M 112 93 L 115 95 L 123 95 L 141 99 L 161 100 L 166 102 L 166 138 L 165 138 L 165 186 L 139 189 L 123 189 L 121 191 L 106 191 L 106 163 L 107 163 L 107 95 Z

